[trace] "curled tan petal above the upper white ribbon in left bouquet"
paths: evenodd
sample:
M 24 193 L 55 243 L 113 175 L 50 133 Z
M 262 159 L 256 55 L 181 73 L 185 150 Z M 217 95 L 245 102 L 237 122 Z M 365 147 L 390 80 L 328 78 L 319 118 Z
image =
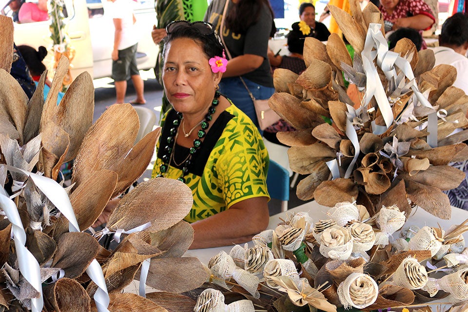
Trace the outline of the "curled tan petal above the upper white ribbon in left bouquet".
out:
M 38 169 L 44 176 L 57 180 L 59 169 L 65 160 L 70 146 L 70 137 L 59 126 L 48 122 L 41 128 L 42 149 L 40 150 Z

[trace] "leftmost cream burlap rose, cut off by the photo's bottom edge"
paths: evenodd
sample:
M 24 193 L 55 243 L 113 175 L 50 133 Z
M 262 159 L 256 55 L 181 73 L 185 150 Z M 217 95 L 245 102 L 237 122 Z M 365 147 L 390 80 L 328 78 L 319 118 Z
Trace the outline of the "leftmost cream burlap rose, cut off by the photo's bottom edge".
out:
M 238 300 L 227 305 L 224 295 L 215 289 L 205 289 L 196 299 L 196 312 L 254 312 L 254 304 L 250 300 Z

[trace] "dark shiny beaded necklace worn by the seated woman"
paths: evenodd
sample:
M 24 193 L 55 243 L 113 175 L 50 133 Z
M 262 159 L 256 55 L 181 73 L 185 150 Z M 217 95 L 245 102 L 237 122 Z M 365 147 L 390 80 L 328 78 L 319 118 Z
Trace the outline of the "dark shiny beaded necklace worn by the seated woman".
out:
M 205 118 L 203 118 L 203 120 L 200 123 L 201 130 L 198 130 L 197 132 L 198 138 L 194 140 L 194 146 L 192 146 L 189 149 L 189 155 L 183 162 L 184 166 L 182 167 L 182 176 L 177 178 L 177 180 L 179 181 L 182 181 L 185 183 L 184 176 L 186 176 L 189 173 L 189 167 L 192 164 L 192 157 L 194 156 L 196 151 L 198 151 L 201 147 L 201 144 L 202 144 L 201 138 L 205 137 L 206 135 L 205 130 L 208 129 L 208 127 L 210 126 L 209 122 L 213 119 L 213 114 L 215 114 L 216 106 L 218 106 L 219 104 L 219 99 L 218 99 L 219 96 L 220 96 L 220 93 L 216 91 L 215 98 L 213 98 L 213 101 L 211 102 L 211 106 L 210 108 L 208 108 L 208 113 L 205 115 Z M 174 127 L 171 128 L 171 130 L 169 130 L 170 135 L 169 137 L 167 137 L 167 140 L 166 140 L 166 146 L 164 147 L 165 154 L 161 157 L 162 164 L 159 166 L 159 171 L 161 173 L 158 174 L 156 177 L 163 177 L 163 174 L 165 174 L 168 171 L 171 161 L 173 162 L 175 161 L 174 150 L 176 149 L 176 141 L 177 141 L 177 136 L 179 133 L 178 128 L 180 126 L 182 118 L 183 118 L 182 113 L 177 112 L 177 118 L 174 119 L 174 121 L 172 122 Z

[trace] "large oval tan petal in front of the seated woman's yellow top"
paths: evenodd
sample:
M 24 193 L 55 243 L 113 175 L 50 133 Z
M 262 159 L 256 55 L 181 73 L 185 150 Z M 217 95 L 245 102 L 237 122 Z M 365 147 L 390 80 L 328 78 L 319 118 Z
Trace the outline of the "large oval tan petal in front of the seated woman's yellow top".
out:
M 168 178 L 150 179 L 138 184 L 119 201 L 109 216 L 107 228 L 113 232 L 117 229 L 128 231 L 151 222 L 153 230 L 164 230 L 188 215 L 192 204 L 192 191 L 183 182 Z M 141 207 L 145 207 L 144 214 Z

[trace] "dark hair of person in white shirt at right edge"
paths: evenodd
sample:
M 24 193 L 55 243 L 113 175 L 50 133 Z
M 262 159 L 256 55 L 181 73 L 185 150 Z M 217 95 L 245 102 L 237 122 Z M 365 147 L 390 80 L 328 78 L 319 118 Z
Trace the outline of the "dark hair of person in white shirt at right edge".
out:
M 455 13 L 442 25 L 439 45 L 455 45 L 457 47 L 468 41 L 468 18 L 463 13 Z

